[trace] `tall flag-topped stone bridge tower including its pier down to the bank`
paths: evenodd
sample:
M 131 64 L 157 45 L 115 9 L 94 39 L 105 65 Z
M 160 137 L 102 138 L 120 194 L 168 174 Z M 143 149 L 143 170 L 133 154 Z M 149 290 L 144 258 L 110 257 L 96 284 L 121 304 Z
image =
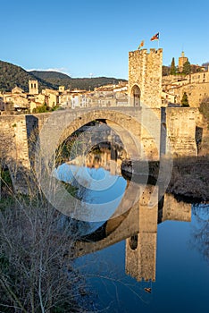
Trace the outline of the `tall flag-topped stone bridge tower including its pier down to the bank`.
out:
M 160 156 L 162 65 L 163 49 L 129 53 L 129 106 L 138 108 L 140 142 L 149 161 Z

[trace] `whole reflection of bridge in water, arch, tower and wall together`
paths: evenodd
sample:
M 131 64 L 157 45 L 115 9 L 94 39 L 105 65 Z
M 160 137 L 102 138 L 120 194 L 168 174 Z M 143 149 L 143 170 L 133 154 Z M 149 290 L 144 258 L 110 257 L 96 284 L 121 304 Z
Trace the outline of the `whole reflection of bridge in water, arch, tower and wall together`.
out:
M 116 217 L 106 221 L 103 226 L 77 241 L 76 256 L 88 253 L 126 240 L 126 274 L 138 281 L 155 281 L 157 224 L 166 220 L 191 221 L 191 205 L 178 202 L 173 196 L 164 194 L 161 199 L 160 189 L 152 185 L 133 184 L 132 199 L 126 194 L 117 209 Z M 140 199 L 128 211 L 117 216 L 124 207 L 130 207 L 136 198 L 136 192 L 141 193 Z M 130 195 L 130 194 L 129 194 Z M 152 199 L 150 198 L 152 195 Z M 150 199 L 153 202 L 150 206 Z M 160 199 L 158 201 L 158 199 Z M 119 210 L 119 211 L 118 211 Z

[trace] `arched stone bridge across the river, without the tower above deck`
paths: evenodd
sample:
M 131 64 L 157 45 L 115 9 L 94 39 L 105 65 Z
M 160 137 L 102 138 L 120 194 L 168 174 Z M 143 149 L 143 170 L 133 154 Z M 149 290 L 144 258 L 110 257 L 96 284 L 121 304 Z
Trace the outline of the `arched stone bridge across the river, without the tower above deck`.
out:
M 27 193 L 23 176 L 33 165 L 34 141 L 39 137 L 46 154 L 52 155 L 74 131 L 96 120 L 120 136 L 131 159 L 156 161 L 162 155 L 196 156 L 196 115 L 196 108 L 146 106 L 1 115 L 0 158 L 10 170 L 14 190 Z

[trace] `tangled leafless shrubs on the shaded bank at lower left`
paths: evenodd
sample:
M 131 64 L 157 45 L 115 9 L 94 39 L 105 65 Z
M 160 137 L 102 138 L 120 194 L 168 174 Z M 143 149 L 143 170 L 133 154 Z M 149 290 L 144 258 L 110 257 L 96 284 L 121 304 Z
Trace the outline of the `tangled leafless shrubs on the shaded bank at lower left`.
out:
M 33 168 L 25 173 L 29 196 L 13 194 L 0 209 L 0 311 L 84 312 L 84 281 L 72 265 L 79 225 L 50 205 Z

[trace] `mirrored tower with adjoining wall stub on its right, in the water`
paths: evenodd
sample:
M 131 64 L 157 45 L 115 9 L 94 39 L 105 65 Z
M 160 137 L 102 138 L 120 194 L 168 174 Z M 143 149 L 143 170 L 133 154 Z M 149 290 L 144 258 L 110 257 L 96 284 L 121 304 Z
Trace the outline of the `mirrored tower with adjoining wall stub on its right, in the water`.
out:
M 165 194 L 158 204 L 158 193 L 148 203 L 155 186 L 147 185 L 138 202 L 139 232 L 126 240 L 126 274 L 138 281 L 155 282 L 157 224 L 166 220 L 191 221 L 191 205 Z M 160 193 L 160 192 L 159 192 Z

